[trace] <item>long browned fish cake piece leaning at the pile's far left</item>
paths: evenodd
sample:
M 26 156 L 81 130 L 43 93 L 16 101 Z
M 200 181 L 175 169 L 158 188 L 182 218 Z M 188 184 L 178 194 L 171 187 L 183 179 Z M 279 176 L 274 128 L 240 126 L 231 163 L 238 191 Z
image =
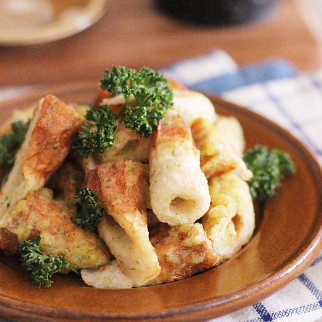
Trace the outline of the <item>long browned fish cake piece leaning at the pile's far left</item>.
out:
M 0 196 L 0 217 L 33 191 L 42 188 L 63 163 L 71 136 L 81 126 L 71 107 L 48 95 L 35 109 L 26 138 L 16 155 L 14 168 Z

